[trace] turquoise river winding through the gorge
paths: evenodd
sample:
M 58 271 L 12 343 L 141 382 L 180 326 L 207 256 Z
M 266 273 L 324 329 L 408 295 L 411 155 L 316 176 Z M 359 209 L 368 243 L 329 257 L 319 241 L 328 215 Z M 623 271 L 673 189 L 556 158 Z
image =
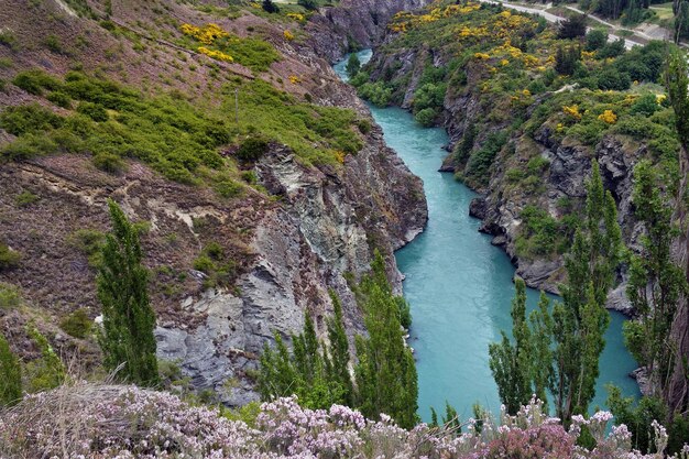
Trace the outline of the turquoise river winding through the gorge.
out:
M 365 63 L 371 52 L 359 56 Z M 344 64 L 335 69 L 347 79 Z M 417 362 L 419 414 L 429 420 L 430 407 L 444 412 L 446 401 L 464 418 L 472 415 L 477 402 L 497 414 L 500 401 L 488 346 L 500 339 L 500 330 L 511 328 L 514 266 L 501 249 L 491 245 L 489 236 L 478 231 L 480 221 L 469 217 L 475 194 L 452 174 L 437 172 L 447 155 L 441 150 L 448 142 L 445 130 L 424 129 L 398 108 L 371 107 L 371 112 L 387 144 L 424 181 L 428 199 L 428 226 L 396 253 L 405 275 L 404 296 L 412 307 L 409 346 Z M 529 291 L 528 299 L 533 308 L 538 292 Z M 605 406 L 604 386 L 610 382 L 625 395 L 638 395 L 636 382 L 628 376 L 636 364 L 622 340 L 624 317 L 611 316 L 592 407 Z

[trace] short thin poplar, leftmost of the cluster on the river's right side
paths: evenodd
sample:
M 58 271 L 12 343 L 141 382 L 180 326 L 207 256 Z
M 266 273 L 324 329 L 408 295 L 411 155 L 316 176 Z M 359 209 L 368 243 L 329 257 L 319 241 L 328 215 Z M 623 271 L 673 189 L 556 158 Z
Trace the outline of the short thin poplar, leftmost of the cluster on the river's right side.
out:
M 512 300 L 514 345 L 504 331 L 502 342 L 489 346 L 489 364 L 497 384 L 500 400 L 507 413 L 515 415 L 532 397 L 531 330 L 526 323 L 526 284 L 515 280 L 516 296 Z

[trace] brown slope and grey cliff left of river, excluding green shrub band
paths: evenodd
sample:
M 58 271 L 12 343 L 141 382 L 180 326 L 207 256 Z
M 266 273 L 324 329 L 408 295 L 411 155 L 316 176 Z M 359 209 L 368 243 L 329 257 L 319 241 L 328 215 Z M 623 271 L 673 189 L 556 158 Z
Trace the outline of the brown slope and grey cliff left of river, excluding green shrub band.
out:
M 0 11 L 0 23 L 7 24 L 3 36 L 12 37 L 11 45 L 0 45 L 0 58 L 9 63 L 0 68 L 3 85 L 26 68 L 59 77 L 78 67 L 96 69 L 101 78 L 152 97 L 172 94 L 214 107 L 223 84 L 261 79 L 284 95 L 283 102 L 289 97 L 299 103 L 347 107 L 365 129 L 350 133 L 361 138 L 363 146 L 338 153 L 333 164 L 314 165 L 280 142 L 271 142 L 255 163 L 237 164 L 231 160 L 236 145 L 229 145 L 223 152 L 230 162 L 228 173 L 248 179 L 230 197 L 219 196 L 203 181 L 169 181 L 129 157 L 121 172 L 103 172 L 94 167 L 88 151 L 0 163 L 0 242 L 21 255 L 18 266 L 0 270 L 0 285 L 6 291 L 18 288 L 23 297 L 21 307 L 0 308 L 0 327 L 14 350 L 26 359 L 35 356 L 24 331 L 33 320 L 65 358 L 79 356 L 87 370 L 98 362 L 92 339 L 70 337 L 58 324 L 79 308 L 91 318 L 99 314 L 97 262 L 91 255 L 92 242 L 109 227 L 107 198 L 116 199 L 142 225 L 158 316 L 158 356 L 178 364 L 195 389 L 212 390 L 230 405 L 255 397 L 249 370 L 255 369 L 263 343 L 274 331 L 284 336 L 300 331 L 305 312 L 325 327 L 332 306 L 330 289 L 342 300 L 348 331 L 352 336 L 364 331 L 348 282 L 356 282 L 368 270 L 373 251 L 380 250 L 400 288 L 393 250 L 423 230 L 427 209 L 420 181 L 385 146 L 365 106 L 320 57 L 337 57 L 341 50 L 321 48 L 319 39 L 294 41 L 282 23 L 251 9 L 223 12 L 214 2 L 196 8 L 173 1 L 160 6 L 89 1 L 84 11 L 73 2 L 20 3 L 24 2 Z M 365 3 L 369 19 L 362 21 L 354 13 L 357 2 L 343 3 L 313 22 L 289 26 L 303 26 L 306 36 L 316 31 L 329 34 L 333 43 L 346 43 L 341 28 L 359 21 L 361 29 L 353 36 L 365 45 L 378 40 L 390 14 L 407 4 Z M 371 14 L 380 14 L 379 24 Z M 40 25 L 45 17 L 52 18 L 46 28 Z M 265 40 L 277 51 L 277 62 L 256 72 L 238 63 L 209 62 L 181 47 L 179 24 L 208 22 L 240 37 Z M 70 113 L 37 94 L 10 84 L 3 87 L 0 107 L 36 102 L 61 116 Z M 250 127 L 249 132 L 261 129 Z M 0 129 L 0 140 L 7 145 L 15 138 Z M 308 141 L 318 145 L 314 138 Z M 21 199 L 29 195 L 30 203 Z M 210 283 L 194 264 L 209 243 L 231 261 L 228 282 Z

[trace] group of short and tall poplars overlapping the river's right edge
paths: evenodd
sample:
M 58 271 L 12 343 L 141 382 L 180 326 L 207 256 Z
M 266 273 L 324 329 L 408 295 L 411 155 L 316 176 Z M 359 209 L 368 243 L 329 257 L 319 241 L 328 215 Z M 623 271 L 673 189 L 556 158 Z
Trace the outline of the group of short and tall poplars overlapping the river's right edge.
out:
M 549 302 L 542 294 L 527 325 L 524 284 L 517 281 L 512 307 L 515 342 L 512 345 L 503 334 L 502 343 L 489 349 L 491 370 L 508 409 L 518 409 L 535 393 L 542 400 L 549 394 L 556 415 L 566 424 L 572 415 L 588 413 L 610 323 L 605 299 L 621 255 L 615 203 L 604 190 L 594 162 L 587 184 L 586 219 L 577 228 L 566 258 L 568 282 L 560 286 L 562 303 L 549 310 Z

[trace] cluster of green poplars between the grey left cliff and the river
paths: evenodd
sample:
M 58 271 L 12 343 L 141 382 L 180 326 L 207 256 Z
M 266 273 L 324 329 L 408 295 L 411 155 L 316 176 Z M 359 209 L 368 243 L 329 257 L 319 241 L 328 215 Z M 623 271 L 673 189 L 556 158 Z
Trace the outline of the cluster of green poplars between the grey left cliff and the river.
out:
M 369 337 L 356 340 L 356 383 L 349 373 L 350 350 L 340 300 L 333 293 L 331 298 L 335 316 L 327 321 L 329 346 L 318 341 L 308 314 L 304 331 L 292 336 L 292 353 L 277 332 L 275 349 L 265 345 L 258 378 L 261 396 L 271 400 L 297 394 L 302 405 L 314 408 L 348 404 L 365 416 L 378 418 L 385 413 L 400 426 L 413 427 L 418 420 L 416 368 L 401 331 L 401 318 L 411 323 L 408 305 L 392 293 L 381 254 L 376 252 L 371 274 L 357 288 Z

